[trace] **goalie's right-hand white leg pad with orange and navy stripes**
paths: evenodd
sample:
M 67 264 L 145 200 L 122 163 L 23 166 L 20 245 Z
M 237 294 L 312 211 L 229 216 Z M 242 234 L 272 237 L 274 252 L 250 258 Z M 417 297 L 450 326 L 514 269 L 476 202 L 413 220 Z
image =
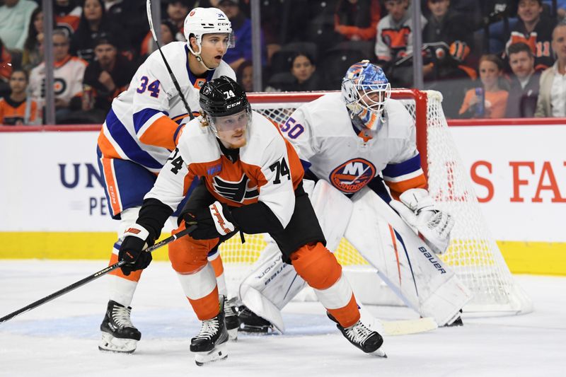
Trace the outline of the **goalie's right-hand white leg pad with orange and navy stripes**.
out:
M 472 297 L 454 271 L 374 192 L 364 188 L 352 201 L 347 240 L 407 306 L 439 326 L 454 320 Z

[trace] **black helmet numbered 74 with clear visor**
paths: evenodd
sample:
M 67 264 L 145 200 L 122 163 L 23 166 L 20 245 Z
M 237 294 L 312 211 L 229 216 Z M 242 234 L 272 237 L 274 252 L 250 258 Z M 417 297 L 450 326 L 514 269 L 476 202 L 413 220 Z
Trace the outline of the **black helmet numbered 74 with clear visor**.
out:
M 221 131 L 226 130 L 226 127 L 247 128 L 251 124 L 252 109 L 246 91 L 228 76 L 220 76 L 218 79 L 204 83 L 200 89 L 199 103 L 204 113 L 204 120 L 212 127 L 216 137 L 219 132 L 219 120 L 222 120 Z M 226 119 L 238 113 L 242 113 L 243 116 Z

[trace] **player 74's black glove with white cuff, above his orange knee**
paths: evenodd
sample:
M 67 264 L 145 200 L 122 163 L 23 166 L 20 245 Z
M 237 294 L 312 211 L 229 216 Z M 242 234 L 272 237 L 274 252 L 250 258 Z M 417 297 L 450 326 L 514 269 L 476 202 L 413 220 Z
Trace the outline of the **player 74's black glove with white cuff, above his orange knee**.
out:
M 195 240 L 212 240 L 236 229 L 230 209 L 218 201 L 200 210 L 188 211 L 184 219 L 187 226 L 197 224 L 195 231 L 190 233 Z

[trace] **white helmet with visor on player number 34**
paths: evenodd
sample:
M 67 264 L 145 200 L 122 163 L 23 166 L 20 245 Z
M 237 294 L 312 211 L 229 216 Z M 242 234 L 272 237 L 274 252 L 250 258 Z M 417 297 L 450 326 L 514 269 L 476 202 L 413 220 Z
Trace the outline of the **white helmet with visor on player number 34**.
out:
M 218 8 L 192 9 L 185 18 L 183 30 L 185 32 L 187 46 L 197 59 L 200 59 L 200 52 L 202 51 L 200 44 L 202 42 L 202 35 L 204 34 L 227 33 L 229 35 L 228 47 L 234 47 L 232 23 L 226 14 Z M 190 46 L 190 35 L 195 35 L 195 38 L 197 38 L 197 46 L 199 47 L 197 52 L 193 51 Z

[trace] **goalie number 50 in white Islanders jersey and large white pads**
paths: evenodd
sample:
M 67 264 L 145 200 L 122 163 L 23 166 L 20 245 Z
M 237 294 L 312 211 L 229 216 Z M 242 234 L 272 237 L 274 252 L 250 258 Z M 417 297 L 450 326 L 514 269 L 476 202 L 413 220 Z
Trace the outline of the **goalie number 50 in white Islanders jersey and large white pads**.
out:
M 434 256 L 448 247 L 454 220 L 429 196 L 414 122 L 390 96 L 381 68 L 365 60 L 348 69 L 341 93 L 302 105 L 281 130 L 299 153 L 305 177 L 318 180 L 309 195 L 328 248 L 347 238 L 408 306 L 438 325 L 460 323 L 470 293 Z M 385 204 L 390 195 L 391 207 L 412 228 Z M 284 330 L 280 310 L 304 287 L 276 250 L 268 242 L 241 284 L 246 330 Z

